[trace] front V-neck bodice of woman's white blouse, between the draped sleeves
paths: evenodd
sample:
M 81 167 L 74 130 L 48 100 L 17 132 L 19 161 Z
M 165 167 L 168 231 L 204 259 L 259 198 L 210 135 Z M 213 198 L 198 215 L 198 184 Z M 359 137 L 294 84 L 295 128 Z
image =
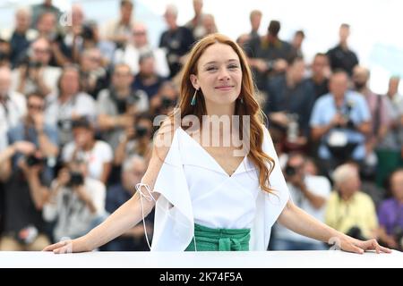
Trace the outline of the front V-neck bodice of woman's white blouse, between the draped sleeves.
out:
M 192 201 L 194 223 L 211 228 L 251 228 L 259 178 L 249 158 L 245 156 L 236 172 L 229 176 L 186 131 L 179 129 L 178 132 L 183 138 L 184 176 Z

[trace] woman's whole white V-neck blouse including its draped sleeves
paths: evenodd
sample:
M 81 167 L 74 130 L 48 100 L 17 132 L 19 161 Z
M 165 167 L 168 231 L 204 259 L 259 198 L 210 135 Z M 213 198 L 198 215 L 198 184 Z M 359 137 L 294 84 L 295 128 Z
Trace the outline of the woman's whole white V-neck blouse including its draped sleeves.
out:
M 249 249 L 267 249 L 271 226 L 289 194 L 269 131 L 263 130 L 262 150 L 275 161 L 270 174 L 274 194 L 260 188 L 257 170 L 249 159 L 229 176 L 189 134 L 181 128 L 175 131 L 153 189 L 160 196 L 151 250 L 184 251 L 193 240 L 194 223 L 251 228 Z

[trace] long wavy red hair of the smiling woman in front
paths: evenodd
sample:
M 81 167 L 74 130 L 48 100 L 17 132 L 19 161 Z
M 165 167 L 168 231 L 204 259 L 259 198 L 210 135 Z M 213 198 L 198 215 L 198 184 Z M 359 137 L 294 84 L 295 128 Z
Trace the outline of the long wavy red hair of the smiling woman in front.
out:
M 211 45 L 215 43 L 221 43 L 228 46 L 231 46 L 233 50 L 236 52 L 236 55 L 239 56 L 239 61 L 242 69 L 242 84 L 241 84 L 241 92 L 240 97 L 243 98 L 243 103 L 241 103 L 240 97 L 236 99 L 236 108 L 235 115 L 239 115 L 240 118 L 240 134 L 243 134 L 244 122 L 243 115 L 249 115 L 250 117 L 250 134 L 249 138 L 243 138 L 242 140 L 249 139 L 250 151 L 247 155 L 256 168 L 259 171 L 259 184 L 264 191 L 272 193 L 273 190 L 270 189 L 270 173 L 274 168 L 274 160 L 265 154 L 262 151 L 262 142 L 263 142 L 263 118 L 265 117 L 261 107 L 255 99 L 254 95 L 254 84 L 252 78 L 252 72 L 249 68 L 249 65 L 246 61 L 246 56 L 244 55 L 244 51 L 240 46 L 236 44 L 227 36 L 222 34 L 211 34 L 205 38 L 202 38 L 199 42 L 197 42 L 191 52 L 188 55 L 188 59 L 184 64 L 184 67 L 181 70 L 181 86 L 180 86 L 180 98 L 178 106 L 176 106 L 176 112 L 180 113 L 181 116 L 181 126 L 182 119 L 184 116 L 193 114 L 199 118 L 199 122 L 201 121 L 201 116 L 206 115 L 206 105 L 204 102 L 204 97 L 200 95 L 197 97 L 197 104 L 191 105 L 192 97 L 195 89 L 193 88 L 192 82 L 190 80 L 191 74 L 198 74 L 197 71 L 197 63 L 204 53 L 204 51 Z M 174 122 L 175 113 L 169 115 L 170 122 Z M 267 167 L 269 165 L 269 168 Z

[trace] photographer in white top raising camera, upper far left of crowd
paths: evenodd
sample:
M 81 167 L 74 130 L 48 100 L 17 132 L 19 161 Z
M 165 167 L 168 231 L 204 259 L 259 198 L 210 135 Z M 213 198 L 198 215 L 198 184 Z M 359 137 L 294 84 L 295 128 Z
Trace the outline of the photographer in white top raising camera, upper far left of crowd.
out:
M 36 90 L 45 96 L 56 91 L 61 70 L 49 66 L 52 51 L 47 38 L 39 37 L 30 44 L 27 55 L 13 70 L 13 90 L 29 94 Z

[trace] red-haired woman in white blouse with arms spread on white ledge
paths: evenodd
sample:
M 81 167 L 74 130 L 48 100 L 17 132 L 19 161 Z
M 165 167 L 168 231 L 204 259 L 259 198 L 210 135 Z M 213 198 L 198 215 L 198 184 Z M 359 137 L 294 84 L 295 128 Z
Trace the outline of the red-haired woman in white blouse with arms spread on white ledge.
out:
M 254 90 L 242 49 L 220 34 L 202 38 L 184 64 L 180 101 L 154 138 L 137 193 L 88 234 L 45 250 L 98 248 L 155 206 L 151 250 L 264 251 L 279 220 L 346 251 L 389 252 L 319 223 L 289 200 Z

